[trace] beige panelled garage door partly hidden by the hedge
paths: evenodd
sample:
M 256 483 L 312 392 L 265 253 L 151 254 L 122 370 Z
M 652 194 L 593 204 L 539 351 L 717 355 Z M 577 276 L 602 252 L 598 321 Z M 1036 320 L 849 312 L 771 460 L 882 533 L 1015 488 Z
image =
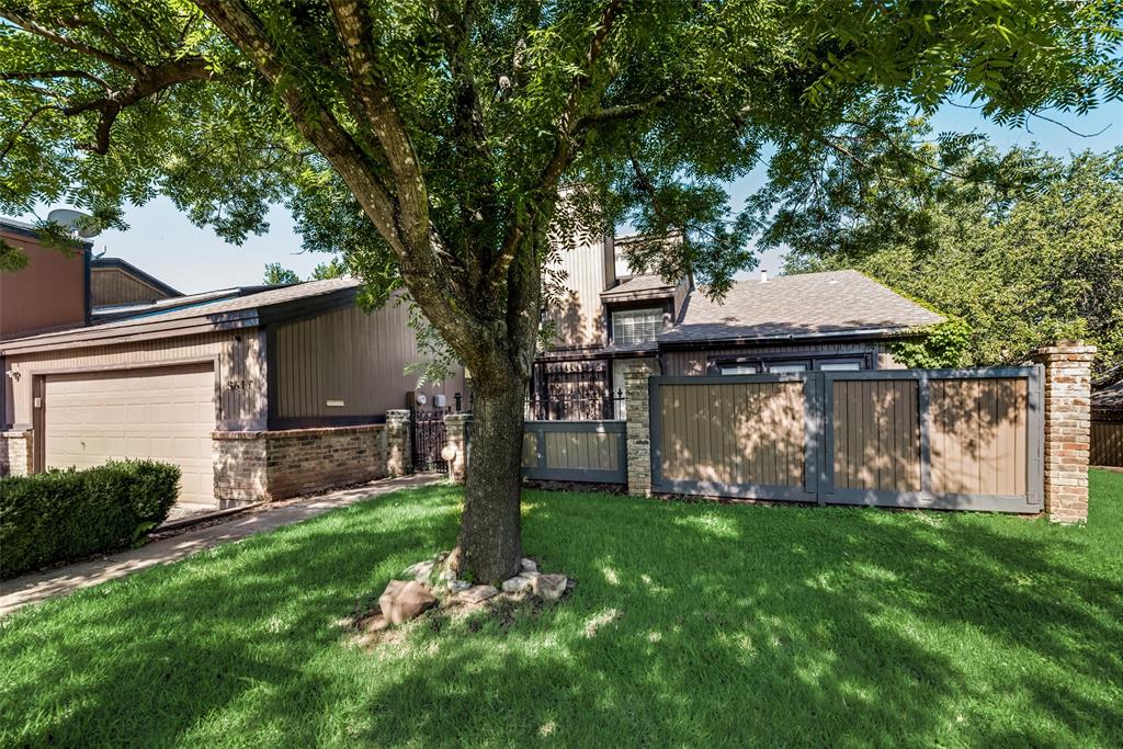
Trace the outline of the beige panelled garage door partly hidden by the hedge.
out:
M 181 503 L 214 504 L 212 365 L 49 375 L 45 385 L 48 468 L 165 460 L 183 471 Z

